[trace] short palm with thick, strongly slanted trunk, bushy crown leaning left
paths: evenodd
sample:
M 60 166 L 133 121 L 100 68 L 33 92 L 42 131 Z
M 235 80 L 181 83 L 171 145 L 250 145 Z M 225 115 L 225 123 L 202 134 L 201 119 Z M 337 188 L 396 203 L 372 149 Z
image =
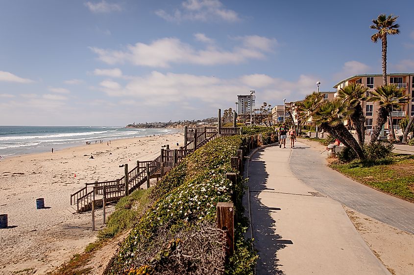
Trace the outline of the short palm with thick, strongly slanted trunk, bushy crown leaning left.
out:
M 352 115 L 353 109 L 340 98 L 323 102 L 313 114 L 314 122 L 331 136 L 338 138 L 345 146 L 352 148 L 359 159 L 365 159 L 364 150 L 343 125 Z

